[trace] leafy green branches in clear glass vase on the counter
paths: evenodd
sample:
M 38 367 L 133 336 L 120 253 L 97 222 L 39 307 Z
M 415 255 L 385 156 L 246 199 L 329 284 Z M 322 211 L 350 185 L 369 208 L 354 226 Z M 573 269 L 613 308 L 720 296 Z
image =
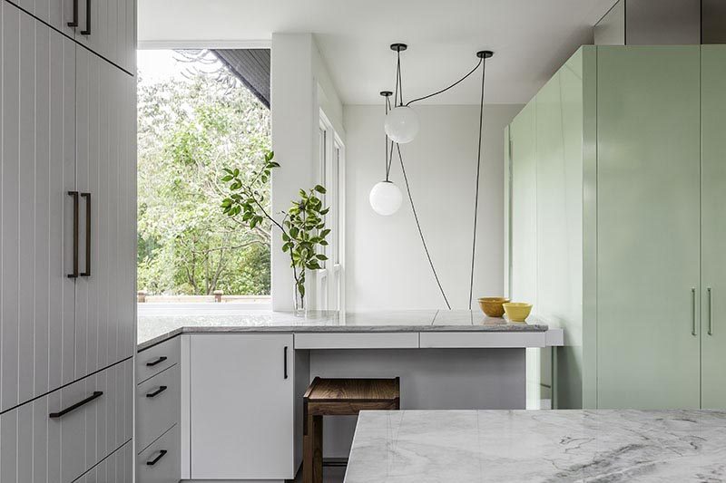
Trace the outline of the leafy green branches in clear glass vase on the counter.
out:
M 268 199 L 263 185 L 270 180 L 272 169 L 280 168 L 274 160 L 274 153 L 265 154 L 265 162 L 260 169 L 249 176 L 242 176 L 240 169 L 225 168 L 222 181 L 228 183 L 229 196 L 221 202 L 221 208 L 230 217 L 238 217 L 241 222 L 254 228 L 265 219 L 278 227 L 282 237 L 282 251 L 289 254 L 292 276 L 295 279 L 294 308 L 296 315 L 308 311 L 305 274 L 307 270 L 318 270 L 320 262 L 328 259 L 319 253 L 320 246 L 327 246 L 326 237 L 330 230 L 325 227 L 325 215 L 330 208 L 324 208 L 319 195 L 325 188 L 316 185 L 308 190 L 299 190 L 299 199 L 292 201 L 287 211 L 282 211 L 280 221 L 270 214 Z

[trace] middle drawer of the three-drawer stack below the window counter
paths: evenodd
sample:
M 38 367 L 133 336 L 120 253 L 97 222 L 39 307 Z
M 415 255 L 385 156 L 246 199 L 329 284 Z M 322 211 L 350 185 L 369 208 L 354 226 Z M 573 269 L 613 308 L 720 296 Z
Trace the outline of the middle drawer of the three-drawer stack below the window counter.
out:
M 180 420 L 179 364 L 156 374 L 136 388 L 136 451 L 146 449 L 153 440 Z

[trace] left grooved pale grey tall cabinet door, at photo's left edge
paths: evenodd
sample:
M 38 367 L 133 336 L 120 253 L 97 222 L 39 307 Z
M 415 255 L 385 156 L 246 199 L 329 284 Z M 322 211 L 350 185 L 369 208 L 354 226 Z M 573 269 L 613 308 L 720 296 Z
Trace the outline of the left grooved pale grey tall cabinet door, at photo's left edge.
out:
M 73 41 L 2 2 L 0 411 L 74 380 Z

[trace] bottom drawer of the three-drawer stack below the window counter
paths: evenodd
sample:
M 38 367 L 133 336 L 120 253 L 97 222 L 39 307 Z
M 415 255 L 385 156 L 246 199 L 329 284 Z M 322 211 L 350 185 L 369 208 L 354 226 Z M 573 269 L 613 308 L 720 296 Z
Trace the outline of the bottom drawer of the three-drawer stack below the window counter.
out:
M 136 483 L 179 483 L 182 478 L 179 445 L 177 424 L 139 454 L 136 459 Z

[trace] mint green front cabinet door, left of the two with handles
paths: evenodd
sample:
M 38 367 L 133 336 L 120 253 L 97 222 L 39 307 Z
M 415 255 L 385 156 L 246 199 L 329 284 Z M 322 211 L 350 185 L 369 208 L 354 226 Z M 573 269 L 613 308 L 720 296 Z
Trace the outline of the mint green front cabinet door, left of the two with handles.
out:
M 700 404 L 700 47 L 598 47 L 599 408 Z

